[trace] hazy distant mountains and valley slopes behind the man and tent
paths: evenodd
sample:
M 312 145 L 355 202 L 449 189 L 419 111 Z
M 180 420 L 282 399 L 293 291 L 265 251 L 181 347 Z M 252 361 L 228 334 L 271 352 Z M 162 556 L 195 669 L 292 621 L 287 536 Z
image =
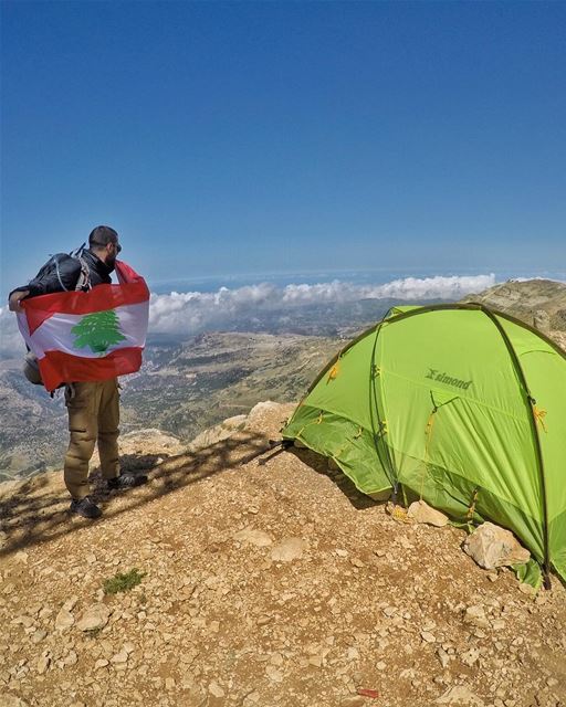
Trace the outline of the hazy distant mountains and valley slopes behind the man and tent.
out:
M 509 281 L 464 302 L 536 323 L 566 350 L 565 284 Z M 189 442 L 261 400 L 298 400 L 324 363 L 392 304 L 399 303 L 310 305 L 292 316 L 247 316 L 224 333 L 150 336 L 142 370 L 122 380 L 122 431 L 158 428 Z M 67 443 L 62 395 L 51 399 L 20 369 L 19 358 L 0 360 L 0 481 L 60 468 Z

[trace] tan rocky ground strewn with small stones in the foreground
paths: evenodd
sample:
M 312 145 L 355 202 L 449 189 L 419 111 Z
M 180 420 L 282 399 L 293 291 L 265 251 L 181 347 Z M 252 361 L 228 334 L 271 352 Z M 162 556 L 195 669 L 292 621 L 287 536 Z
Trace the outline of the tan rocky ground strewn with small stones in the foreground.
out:
M 269 451 L 291 410 L 190 449 L 123 439 L 150 483 L 108 495 L 95 475 L 95 523 L 67 514 L 60 473 L 0 486 L 1 706 L 566 705 L 565 588 L 534 597 L 462 530 Z M 137 587 L 104 592 L 133 568 Z

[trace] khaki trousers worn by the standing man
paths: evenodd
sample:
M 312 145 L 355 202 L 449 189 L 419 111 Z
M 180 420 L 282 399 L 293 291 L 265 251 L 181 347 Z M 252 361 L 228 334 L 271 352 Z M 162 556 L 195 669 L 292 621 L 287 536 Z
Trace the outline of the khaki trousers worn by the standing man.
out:
M 98 442 L 104 478 L 119 474 L 119 394 L 116 378 L 73 383 L 65 389 L 71 440 L 65 454 L 64 478 L 75 500 L 88 496 L 88 462 Z

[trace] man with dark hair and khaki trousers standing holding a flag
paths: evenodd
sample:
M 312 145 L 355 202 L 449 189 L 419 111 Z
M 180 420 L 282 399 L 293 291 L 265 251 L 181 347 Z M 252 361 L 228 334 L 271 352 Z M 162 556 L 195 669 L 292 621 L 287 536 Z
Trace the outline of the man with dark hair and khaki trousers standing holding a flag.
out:
M 122 251 L 118 234 L 107 225 L 95 228 L 88 250 L 81 260 L 63 256 L 56 267 L 45 265 L 34 279 L 18 287 L 9 297 L 12 312 L 22 312 L 21 300 L 53 292 L 90 289 L 111 284 L 116 256 Z M 55 256 L 57 257 L 57 256 Z M 147 476 L 123 473 L 118 460 L 119 394 L 116 378 L 65 386 L 70 443 L 65 455 L 64 479 L 72 497 L 71 510 L 85 518 L 98 518 L 98 506 L 88 496 L 88 463 L 96 442 L 102 475 L 109 489 L 125 489 L 147 482 Z

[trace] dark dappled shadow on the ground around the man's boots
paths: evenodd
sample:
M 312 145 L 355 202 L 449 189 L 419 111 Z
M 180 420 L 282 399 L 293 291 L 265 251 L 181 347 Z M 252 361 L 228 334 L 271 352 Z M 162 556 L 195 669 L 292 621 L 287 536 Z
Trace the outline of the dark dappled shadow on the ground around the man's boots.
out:
M 91 497 L 103 509 L 103 517 L 92 521 L 69 510 L 70 497 L 62 472 L 30 478 L 17 493 L 0 497 L 0 557 L 31 545 L 54 540 L 85 525 L 104 524 L 123 513 L 150 504 L 185 486 L 233 468 L 270 451 L 269 440 L 256 433 L 238 434 L 197 452 L 164 460 L 157 455 L 124 455 L 122 468 L 147 473 L 150 483 L 128 492 L 108 492 L 99 472 L 91 474 Z

